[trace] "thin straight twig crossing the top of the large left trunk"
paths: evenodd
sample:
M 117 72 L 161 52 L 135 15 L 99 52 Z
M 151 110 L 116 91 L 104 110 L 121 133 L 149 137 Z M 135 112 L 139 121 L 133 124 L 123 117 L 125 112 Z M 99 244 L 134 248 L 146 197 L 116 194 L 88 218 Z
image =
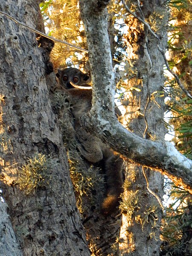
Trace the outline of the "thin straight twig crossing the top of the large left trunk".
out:
M 70 43 L 67 43 L 66 41 L 62 41 L 62 40 L 56 39 L 56 38 L 54 38 L 54 37 L 52 37 L 52 36 L 46 35 L 46 34 L 44 34 L 43 32 L 38 31 L 37 29 L 34 29 L 34 28 L 30 27 L 30 26 L 24 24 L 23 22 L 20 22 L 19 20 L 16 20 L 14 17 L 12 17 L 11 15 L 7 14 L 6 12 L 0 11 L 0 13 L 3 14 L 3 15 L 5 15 L 5 16 L 8 17 L 9 19 L 15 21 L 17 24 L 26 27 L 27 29 L 31 30 L 32 32 L 38 33 L 39 35 L 42 35 L 42 36 L 44 36 L 45 38 L 49 38 L 49 39 L 51 39 L 52 41 L 55 41 L 55 42 L 58 42 L 58 43 L 61 43 L 61 44 L 66 44 L 66 45 L 68 45 L 68 46 L 70 46 L 70 47 L 73 47 L 73 48 L 75 48 L 75 49 L 78 49 L 78 50 L 81 51 L 81 52 L 88 52 L 87 50 L 85 50 L 85 49 L 83 49 L 83 48 L 81 48 L 81 47 L 78 47 L 78 46 L 76 46 L 76 45 L 74 45 L 74 44 L 70 44 Z

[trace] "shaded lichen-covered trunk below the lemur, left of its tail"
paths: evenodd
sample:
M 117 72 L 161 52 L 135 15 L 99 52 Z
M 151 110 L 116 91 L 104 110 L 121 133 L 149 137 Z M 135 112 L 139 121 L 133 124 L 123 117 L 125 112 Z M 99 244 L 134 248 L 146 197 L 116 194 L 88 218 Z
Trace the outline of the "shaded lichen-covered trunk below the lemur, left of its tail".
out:
M 64 111 L 62 114 L 64 115 L 62 130 L 68 131 L 68 134 L 65 134 L 64 143 L 69 148 L 71 178 L 76 190 L 77 206 L 81 212 L 91 255 L 117 256 L 119 254 L 116 237 L 119 236 L 121 215 L 118 211 L 108 216 L 101 214 L 102 202 L 107 191 L 102 166 L 91 164 L 80 154 L 77 149 L 78 140 L 75 132 L 72 133 L 74 128 L 69 129 L 71 116 L 68 112 L 65 114 Z

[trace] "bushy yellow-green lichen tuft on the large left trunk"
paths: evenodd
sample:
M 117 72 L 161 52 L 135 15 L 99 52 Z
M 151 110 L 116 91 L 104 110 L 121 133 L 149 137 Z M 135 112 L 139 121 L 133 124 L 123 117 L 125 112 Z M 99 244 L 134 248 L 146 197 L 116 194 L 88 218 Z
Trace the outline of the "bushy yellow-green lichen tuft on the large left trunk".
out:
M 37 187 L 44 187 L 49 184 L 51 178 L 50 170 L 56 166 L 51 157 L 41 153 L 35 153 L 33 158 L 23 165 L 18 172 L 17 184 L 27 195 Z

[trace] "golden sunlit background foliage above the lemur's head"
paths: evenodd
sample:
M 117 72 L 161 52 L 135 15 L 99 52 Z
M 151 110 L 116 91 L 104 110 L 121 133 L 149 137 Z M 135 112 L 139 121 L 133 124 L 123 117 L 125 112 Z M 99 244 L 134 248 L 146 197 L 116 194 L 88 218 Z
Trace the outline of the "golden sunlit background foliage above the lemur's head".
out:
M 54 0 L 41 3 L 41 13 L 45 20 L 45 26 L 49 29 L 49 35 L 55 38 L 73 43 L 86 49 L 84 26 L 79 12 L 77 0 Z M 51 60 L 54 67 L 69 67 L 76 65 L 89 71 L 88 54 L 77 52 L 67 45 L 55 43 L 51 52 Z

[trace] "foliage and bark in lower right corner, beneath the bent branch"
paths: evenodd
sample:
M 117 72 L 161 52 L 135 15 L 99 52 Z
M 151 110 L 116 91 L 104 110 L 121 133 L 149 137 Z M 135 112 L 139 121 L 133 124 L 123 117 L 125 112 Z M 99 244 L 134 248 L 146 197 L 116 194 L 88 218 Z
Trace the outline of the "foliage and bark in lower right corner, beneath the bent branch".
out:
M 160 255 L 190 256 L 192 246 L 192 196 L 185 190 L 169 183 L 172 190 L 169 197 L 172 199 L 166 208 L 166 217 L 163 220 L 162 245 Z

